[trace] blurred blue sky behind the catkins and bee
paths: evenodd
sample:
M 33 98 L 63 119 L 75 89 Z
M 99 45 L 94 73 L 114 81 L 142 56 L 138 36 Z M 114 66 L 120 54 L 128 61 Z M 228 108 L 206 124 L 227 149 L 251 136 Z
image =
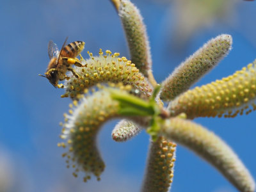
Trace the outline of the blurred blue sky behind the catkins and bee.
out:
M 256 58 L 256 3 L 241 1 L 232 24 L 214 23 L 199 29 L 182 49 L 172 45 L 177 18 L 171 16 L 172 4 L 136 1 L 148 29 L 152 47 L 153 70 L 157 81 L 164 80 L 175 66 L 207 40 L 221 33 L 233 36 L 233 49 L 218 67 L 196 85 L 233 74 Z M 191 19 L 191 18 L 188 18 Z M 63 113 L 69 99 L 61 99 L 63 90 L 38 74 L 49 62 L 49 40 L 59 47 L 83 40 L 86 51 L 97 54 L 99 48 L 129 57 L 120 20 L 109 1 L 53 0 L 0 2 L 0 175 L 8 178 L 7 191 L 139 191 L 145 169 L 148 136 L 142 132 L 126 143 L 111 140 L 115 122 L 108 122 L 99 135 L 99 147 L 106 170 L 102 180 L 88 183 L 75 179 L 65 168 L 57 147 Z M 256 178 L 256 113 L 234 119 L 198 118 L 195 121 L 216 132 L 232 147 Z M 1 161 L 5 159 L 5 161 Z M 236 191 L 220 173 L 183 147 L 177 148 L 173 192 Z M 0 179 L 3 176 L 0 176 Z

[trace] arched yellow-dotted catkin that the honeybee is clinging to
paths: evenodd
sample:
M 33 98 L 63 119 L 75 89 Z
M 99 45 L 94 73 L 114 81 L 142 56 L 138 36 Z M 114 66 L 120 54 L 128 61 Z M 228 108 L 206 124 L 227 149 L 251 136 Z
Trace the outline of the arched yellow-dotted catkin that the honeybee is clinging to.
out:
M 79 98 L 83 95 L 87 88 L 97 83 L 120 83 L 130 84 L 134 90 L 138 90 L 140 94 L 149 97 L 152 92 L 152 86 L 148 83 L 147 78 L 140 73 L 134 63 L 125 57 L 118 58 L 119 53 L 111 54 L 106 51 L 106 55 L 99 51 L 99 56 L 93 56 L 88 52 L 90 59 L 83 60 L 84 67 L 74 68 L 79 75 L 79 79 L 72 76 L 66 82 L 66 93 L 63 97 Z

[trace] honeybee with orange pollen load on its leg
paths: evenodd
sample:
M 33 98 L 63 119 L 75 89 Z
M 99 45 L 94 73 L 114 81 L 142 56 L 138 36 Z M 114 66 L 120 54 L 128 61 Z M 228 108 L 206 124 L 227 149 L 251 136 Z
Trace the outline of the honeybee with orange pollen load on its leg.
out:
M 45 76 L 39 74 L 39 76 L 46 77 L 54 87 L 58 86 L 58 81 L 69 78 L 66 76 L 67 71 L 72 72 L 75 77 L 79 78 L 78 74 L 76 74 L 72 68 L 72 65 L 84 67 L 81 61 L 76 58 L 80 52 L 83 51 L 84 42 L 76 41 L 65 45 L 66 42 L 67 38 L 59 51 L 57 45 L 49 41 L 48 54 L 50 62 L 46 69 Z

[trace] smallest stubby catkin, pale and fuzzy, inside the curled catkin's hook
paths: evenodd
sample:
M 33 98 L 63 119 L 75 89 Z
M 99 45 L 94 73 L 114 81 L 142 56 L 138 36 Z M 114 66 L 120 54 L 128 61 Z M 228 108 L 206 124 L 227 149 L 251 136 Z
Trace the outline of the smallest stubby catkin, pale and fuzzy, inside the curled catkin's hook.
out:
M 134 138 L 142 128 L 129 120 L 121 120 L 112 131 L 112 138 L 115 141 L 127 141 Z

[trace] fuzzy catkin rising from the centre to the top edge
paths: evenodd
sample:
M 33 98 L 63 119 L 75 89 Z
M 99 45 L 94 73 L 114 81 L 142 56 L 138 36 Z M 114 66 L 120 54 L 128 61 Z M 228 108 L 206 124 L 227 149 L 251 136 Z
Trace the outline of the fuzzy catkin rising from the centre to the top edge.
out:
M 140 72 L 148 77 L 152 60 L 147 31 L 140 11 L 131 1 L 122 0 L 118 6 L 118 14 L 124 26 L 132 63 L 135 63 Z

